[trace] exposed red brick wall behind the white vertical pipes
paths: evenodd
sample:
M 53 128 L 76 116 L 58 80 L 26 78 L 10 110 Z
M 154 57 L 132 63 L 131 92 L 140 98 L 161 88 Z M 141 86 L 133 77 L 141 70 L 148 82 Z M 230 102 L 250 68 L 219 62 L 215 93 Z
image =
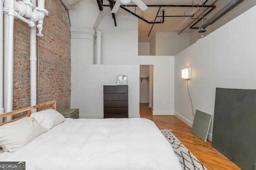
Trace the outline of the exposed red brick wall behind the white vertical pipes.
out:
M 39 38 L 39 102 L 57 100 L 57 109 L 70 108 L 70 21 L 61 0 L 45 0 L 49 14 Z M 36 52 L 36 55 L 38 52 Z M 30 27 L 14 21 L 14 105 L 30 106 Z M 37 56 L 38 59 L 38 56 Z M 38 60 L 37 60 L 38 61 Z

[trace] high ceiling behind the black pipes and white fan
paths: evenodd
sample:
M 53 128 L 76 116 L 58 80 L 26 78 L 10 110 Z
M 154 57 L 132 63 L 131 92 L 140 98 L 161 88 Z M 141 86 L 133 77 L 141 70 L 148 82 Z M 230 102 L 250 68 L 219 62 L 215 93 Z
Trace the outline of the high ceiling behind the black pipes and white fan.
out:
M 68 0 L 62 0 L 62 2 L 66 5 L 68 10 L 70 10 L 70 12 L 73 12 L 73 10 L 74 11 L 80 10 L 80 13 L 79 12 L 77 13 L 79 15 L 76 18 L 78 19 L 82 18 L 82 20 L 84 21 L 86 20 L 89 21 L 89 20 L 92 20 L 92 18 L 94 18 L 94 20 L 96 20 L 94 22 L 94 27 L 95 25 L 97 25 L 97 22 L 99 22 L 100 20 L 99 16 L 103 17 L 105 15 L 112 15 L 108 0 L 103 0 L 103 6 L 104 6 L 103 11 L 99 10 L 96 0 L 70 0 L 70 1 L 77 2 L 77 4 L 75 6 L 70 6 L 68 5 Z M 138 41 L 149 42 L 152 36 L 156 32 L 182 33 L 182 32 L 194 31 L 197 33 L 198 29 L 190 29 L 190 26 L 198 22 L 193 27 L 200 27 L 203 22 L 205 22 L 208 18 L 216 14 L 223 6 L 228 4 L 228 2 L 230 1 L 231 0 L 142 0 L 142 2 L 144 2 L 148 6 L 174 5 L 176 7 L 168 7 L 168 6 L 148 7 L 147 10 L 142 12 L 140 8 L 131 6 L 131 5 L 134 5 L 134 3 L 131 2 L 131 5 L 129 4 L 125 6 L 125 8 L 134 12 L 139 17 L 144 18 L 144 20 L 147 20 L 149 22 L 162 21 L 162 17 L 156 17 L 156 16 L 162 16 L 162 10 L 164 10 L 165 17 L 164 17 L 163 23 L 152 24 L 152 23 L 147 23 L 144 20 L 138 19 L 138 27 L 139 27 Z M 204 7 L 197 7 L 197 5 L 202 6 L 202 3 L 204 3 Z M 193 7 L 183 7 L 183 5 L 189 5 Z M 212 7 L 207 7 L 212 5 L 215 5 L 216 8 L 212 9 Z M 231 16 L 233 15 L 233 16 L 229 20 L 242 14 L 244 11 L 248 10 L 254 5 L 256 5 L 256 0 L 244 0 L 244 2 L 242 2 L 232 10 L 231 12 L 232 14 L 229 14 L 229 15 Z M 212 11 L 209 12 L 209 10 L 211 9 Z M 239 10 L 238 12 L 233 12 L 237 9 Z M 157 15 L 158 10 L 159 10 L 159 13 Z M 98 18 L 95 17 L 93 13 L 94 14 L 97 13 Z M 85 15 L 81 16 L 81 14 L 85 14 Z M 119 8 L 118 12 L 115 15 L 124 15 L 124 14 L 132 15 L 129 12 L 123 10 L 122 8 Z M 205 16 L 203 17 L 203 20 L 202 20 L 203 15 Z M 174 17 L 174 16 L 179 16 L 179 17 Z M 229 20 L 226 20 L 226 22 L 228 22 Z M 118 22 L 116 24 L 118 25 Z M 114 25 L 114 20 L 113 20 L 113 25 Z

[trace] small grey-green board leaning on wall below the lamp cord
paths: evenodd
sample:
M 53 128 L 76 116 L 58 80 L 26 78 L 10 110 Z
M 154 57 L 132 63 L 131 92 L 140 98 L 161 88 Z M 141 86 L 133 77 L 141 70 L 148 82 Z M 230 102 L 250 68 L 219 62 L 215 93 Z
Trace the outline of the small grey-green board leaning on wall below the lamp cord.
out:
M 206 142 L 211 121 L 212 115 L 204 113 L 200 110 L 196 110 L 191 131 Z

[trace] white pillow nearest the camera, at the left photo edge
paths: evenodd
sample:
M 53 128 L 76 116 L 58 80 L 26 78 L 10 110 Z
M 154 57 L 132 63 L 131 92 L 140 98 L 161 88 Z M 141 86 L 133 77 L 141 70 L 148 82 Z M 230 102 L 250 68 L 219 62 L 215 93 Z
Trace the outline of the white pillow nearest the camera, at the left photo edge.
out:
M 24 117 L 0 126 L 0 147 L 5 152 L 14 152 L 45 132 L 47 129 L 39 125 L 35 119 Z

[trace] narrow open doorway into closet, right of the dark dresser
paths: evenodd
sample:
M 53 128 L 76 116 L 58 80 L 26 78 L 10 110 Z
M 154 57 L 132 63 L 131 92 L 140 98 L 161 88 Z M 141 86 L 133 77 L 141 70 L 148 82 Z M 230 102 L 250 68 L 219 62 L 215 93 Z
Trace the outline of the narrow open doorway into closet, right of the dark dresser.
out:
M 140 115 L 152 115 L 153 65 L 140 65 Z

